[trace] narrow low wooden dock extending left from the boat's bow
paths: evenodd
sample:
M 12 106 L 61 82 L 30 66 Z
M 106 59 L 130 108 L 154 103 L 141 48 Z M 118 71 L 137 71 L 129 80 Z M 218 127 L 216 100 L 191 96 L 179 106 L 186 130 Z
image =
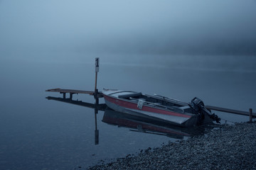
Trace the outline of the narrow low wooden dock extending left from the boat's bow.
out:
M 95 91 L 82 91 L 82 90 L 73 90 L 73 89 L 48 89 L 46 90 L 48 92 L 58 92 L 60 94 L 63 94 L 63 98 L 66 98 L 65 94 L 70 94 L 70 99 L 72 99 L 73 94 L 89 94 L 91 96 L 95 96 L 95 98 L 102 98 L 102 93 L 101 92 L 97 92 L 97 94 L 95 95 Z

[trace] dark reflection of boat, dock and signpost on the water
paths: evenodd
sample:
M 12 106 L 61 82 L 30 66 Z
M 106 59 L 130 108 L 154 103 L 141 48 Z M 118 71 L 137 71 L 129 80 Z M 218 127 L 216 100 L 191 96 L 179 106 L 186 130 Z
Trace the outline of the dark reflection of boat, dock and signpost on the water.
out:
M 99 144 L 99 130 L 97 129 L 97 113 L 98 111 L 104 111 L 102 118 L 103 123 L 109 125 L 116 125 L 118 128 L 129 128 L 133 132 L 143 132 L 153 135 L 165 135 L 174 139 L 183 139 L 184 137 L 192 137 L 195 135 L 202 135 L 206 130 L 203 126 L 197 126 L 192 128 L 181 128 L 174 125 L 169 125 L 161 121 L 150 120 L 135 115 L 129 115 L 127 113 L 120 113 L 107 108 L 105 104 L 93 104 L 83 101 L 75 101 L 70 98 L 56 98 L 48 96 L 48 100 L 62 101 L 65 103 L 71 103 L 79 106 L 85 106 L 87 108 L 95 109 L 95 145 Z

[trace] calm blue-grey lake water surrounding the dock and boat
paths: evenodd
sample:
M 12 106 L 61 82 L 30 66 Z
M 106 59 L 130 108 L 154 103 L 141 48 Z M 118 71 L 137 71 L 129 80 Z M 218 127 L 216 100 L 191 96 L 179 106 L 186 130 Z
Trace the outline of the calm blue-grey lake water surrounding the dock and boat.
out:
M 100 111 L 100 142 L 95 145 L 93 108 L 46 99 L 61 96 L 46 89 L 93 90 L 95 57 L 100 57 L 98 89 L 142 91 L 181 101 L 198 96 L 206 105 L 256 110 L 255 57 L 69 54 L 51 60 L 43 55 L 1 58 L 0 169 L 75 169 L 176 141 L 109 125 L 102 122 L 105 112 Z M 74 95 L 74 99 L 94 103 L 92 96 Z M 215 113 L 231 122 L 248 120 Z

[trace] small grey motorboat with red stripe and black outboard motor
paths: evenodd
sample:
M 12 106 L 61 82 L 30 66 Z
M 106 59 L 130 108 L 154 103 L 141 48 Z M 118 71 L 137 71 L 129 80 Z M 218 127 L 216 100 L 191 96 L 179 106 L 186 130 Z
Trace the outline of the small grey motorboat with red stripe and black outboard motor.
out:
M 103 89 L 102 95 L 107 107 L 120 113 L 169 123 L 181 127 L 220 123 L 220 118 L 205 108 L 200 98 L 191 103 L 159 95 L 142 94 L 136 91 Z

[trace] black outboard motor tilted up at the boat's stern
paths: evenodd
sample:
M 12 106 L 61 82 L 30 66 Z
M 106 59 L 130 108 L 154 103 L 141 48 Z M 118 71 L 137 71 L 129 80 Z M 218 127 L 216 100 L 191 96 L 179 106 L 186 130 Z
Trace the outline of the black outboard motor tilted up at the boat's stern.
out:
M 215 115 L 214 113 L 210 113 L 210 111 L 208 111 L 207 108 L 205 108 L 203 101 L 201 101 L 200 98 L 193 98 L 193 100 L 191 101 L 192 105 L 191 108 L 193 108 L 194 111 L 196 111 L 196 113 L 198 113 L 200 116 L 199 122 L 203 121 L 204 119 L 204 115 L 208 114 L 209 117 L 214 120 L 216 123 L 220 123 L 220 118 L 218 117 L 218 115 Z

